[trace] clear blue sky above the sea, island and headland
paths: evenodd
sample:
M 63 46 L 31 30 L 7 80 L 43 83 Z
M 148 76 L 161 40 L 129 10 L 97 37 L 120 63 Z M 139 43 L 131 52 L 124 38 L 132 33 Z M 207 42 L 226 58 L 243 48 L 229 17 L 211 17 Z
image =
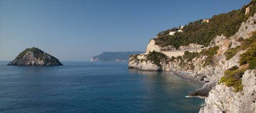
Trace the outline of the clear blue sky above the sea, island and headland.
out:
M 240 9 L 250 0 L 0 0 L 0 60 L 37 47 L 62 60 L 145 51 L 159 31 Z

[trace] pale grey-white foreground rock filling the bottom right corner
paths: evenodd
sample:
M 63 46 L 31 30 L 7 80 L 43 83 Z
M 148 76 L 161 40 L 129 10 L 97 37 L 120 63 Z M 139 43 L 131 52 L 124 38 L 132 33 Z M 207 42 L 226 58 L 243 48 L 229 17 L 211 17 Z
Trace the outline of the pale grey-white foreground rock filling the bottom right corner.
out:
M 232 87 L 217 84 L 205 99 L 200 112 L 255 112 L 256 70 L 247 70 L 242 78 L 243 91 L 235 93 Z

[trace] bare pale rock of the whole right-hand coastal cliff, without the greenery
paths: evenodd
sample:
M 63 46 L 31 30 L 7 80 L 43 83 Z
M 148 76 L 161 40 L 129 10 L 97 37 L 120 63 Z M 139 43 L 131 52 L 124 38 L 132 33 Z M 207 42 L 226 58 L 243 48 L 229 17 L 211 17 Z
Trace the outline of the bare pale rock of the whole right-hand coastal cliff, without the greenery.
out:
M 156 45 L 155 40 L 148 43 L 147 53 L 143 55 L 130 57 L 129 67 L 140 70 L 154 70 L 154 71 L 187 71 L 193 70 L 193 74 L 190 74 L 194 80 L 203 80 L 207 83 L 200 89 L 192 92 L 190 96 L 202 96 L 206 97 L 205 106 L 200 109 L 200 112 L 256 112 L 255 100 L 256 100 L 256 81 L 255 70 L 247 70 L 242 77 L 243 90 L 236 93 L 233 87 L 228 87 L 224 83 L 218 84 L 223 77 L 224 72 L 233 66 L 240 66 L 240 58 L 243 53 L 248 49 L 238 50 L 230 59 L 227 60 L 226 52 L 230 49 L 235 49 L 241 46 L 239 40 L 247 39 L 252 36 L 252 32 L 256 31 L 256 14 L 249 17 L 245 22 L 242 22 L 238 32 L 227 38 L 224 35 L 217 36 L 211 40 L 211 46 L 218 46 L 217 53 L 211 57 L 209 64 L 204 65 L 207 62 L 209 55 L 199 54 L 197 57 L 188 60 L 184 58 L 169 58 L 169 62 L 162 61 L 160 65 L 154 64 L 151 60 L 145 60 L 150 51 L 162 51 L 164 47 Z M 196 45 L 196 46 L 195 46 Z M 190 47 L 189 47 L 190 46 Z M 189 44 L 188 46 L 180 46 L 179 49 L 195 49 L 202 45 Z M 172 48 L 169 46 L 168 48 Z M 175 48 L 172 48 L 175 50 Z M 208 49 L 209 50 L 209 49 Z M 206 52 L 206 51 L 204 51 Z M 191 55 L 191 54 L 190 54 Z M 255 56 L 254 56 L 255 57 Z M 183 58 L 183 60 L 182 60 Z M 183 65 L 183 63 L 185 65 Z

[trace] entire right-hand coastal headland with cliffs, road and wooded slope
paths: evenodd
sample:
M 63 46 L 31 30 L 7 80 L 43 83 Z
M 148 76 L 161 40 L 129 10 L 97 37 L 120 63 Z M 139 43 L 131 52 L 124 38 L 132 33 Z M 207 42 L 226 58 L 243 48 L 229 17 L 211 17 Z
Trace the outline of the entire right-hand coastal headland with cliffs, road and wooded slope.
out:
M 205 97 L 200 112 L 256 112 L 256 1 L 239 10 L 162 31 L 130 69 L 185 71 L 204 81 L 190 96 Z

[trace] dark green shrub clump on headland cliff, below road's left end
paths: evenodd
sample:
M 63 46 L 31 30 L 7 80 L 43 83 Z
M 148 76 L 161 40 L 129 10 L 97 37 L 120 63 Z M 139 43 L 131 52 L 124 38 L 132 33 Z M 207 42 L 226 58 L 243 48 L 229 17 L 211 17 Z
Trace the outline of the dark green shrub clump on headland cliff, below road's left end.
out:
M 158 66 L 161 65 L 160 62 L 165 62 L 165 63 L 169 62 L 169 58 L 165 54 L 156 52 L 156 51 L 148 53 L 146 55 L 146 59 L 151 60 L 154 64 Z

